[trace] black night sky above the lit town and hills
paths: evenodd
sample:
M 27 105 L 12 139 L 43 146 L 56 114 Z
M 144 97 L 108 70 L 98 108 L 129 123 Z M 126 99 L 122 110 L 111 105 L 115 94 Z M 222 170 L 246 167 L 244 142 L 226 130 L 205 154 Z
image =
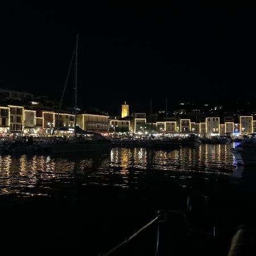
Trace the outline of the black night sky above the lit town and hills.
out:
M 42 5 L 1 1 L 0 88 L 59 100 L 78 33 L 85 108 L 119 111 L 127 101 L 145 111 L 150 98 L 155 109 L 165 108 L 166 97 L 169 108 L 255 98 L 255 2 L 34 2 Z M 73 84 L 71 76 L 71 105 Z

